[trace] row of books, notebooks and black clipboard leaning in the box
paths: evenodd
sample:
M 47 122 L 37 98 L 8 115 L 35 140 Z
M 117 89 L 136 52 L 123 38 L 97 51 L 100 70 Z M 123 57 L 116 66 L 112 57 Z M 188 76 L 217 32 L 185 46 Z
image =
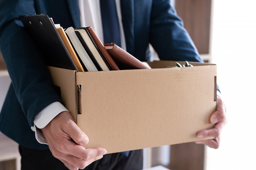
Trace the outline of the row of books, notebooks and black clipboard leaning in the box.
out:
M 149 69 L 115 43 L 103 44 L 91 26 L 63 29 L 44 14 L 20 19 L 43 52 L 47 65 L 78 72 Z

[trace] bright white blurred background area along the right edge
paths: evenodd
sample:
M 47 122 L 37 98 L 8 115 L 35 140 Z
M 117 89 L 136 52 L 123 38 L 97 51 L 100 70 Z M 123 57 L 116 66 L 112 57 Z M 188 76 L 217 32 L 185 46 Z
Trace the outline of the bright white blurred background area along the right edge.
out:
M 255 9 L 255 0 L 214 0 L 212 62 L 228 123 L 220 148 L 207 148 L 207 170 L 256 169 Z

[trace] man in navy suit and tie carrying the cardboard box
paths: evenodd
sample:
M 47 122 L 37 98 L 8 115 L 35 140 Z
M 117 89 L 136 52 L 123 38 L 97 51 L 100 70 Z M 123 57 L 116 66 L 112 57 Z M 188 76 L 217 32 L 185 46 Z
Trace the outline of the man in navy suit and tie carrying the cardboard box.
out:
M 95 1 L 83 2 L 90 4 Z M 102 16 L 108 12 L 103 11 L 105 6 L 101 3 L 104 0 L 100 1 Z M 113 5 L 113 1 L 109 3 Z M 127 52 L 139 60 L 152 60 L 148 46 L 151 43 L 160 59 L 202 62 L 181 20 L 170 6 L 170 0 L 117 0 L 118 3 L 114 8 L 117 12 L 114 13 L 119 13 L 120 45 Z M 72 170 L 85 167 L 142 169 L 141 150 L 131 151 L 127 155 L 108 154 L 101 159 L 106 154 L 104 148 L 85 149 L 79 145 L 87 144 L 89 139 L 62 106 L 61 99 L 53 90 L 42 53 L 18 19 L 19 15 L 44 13 L 64 28 L 80 27 L 81 6 L 81 1 L 78 4 L 73 0 L 0 1 L 0 50 L 12 80 L 0 114 L 0 130 L 20 144 L 22 169 L 64 169 L 65 166 Z M 104 32 L 109 28 L 104 28 L 104 22 L 103 16 L 103 36 L 107 43 Z M 217 105 L 217 111 L 210 118 L 211 123 L 217 123 L 215 127 L 197 134 L 198 137 L 216 137 L 214 140 L 197 142 L 213 148 L 219 147 L 220 133 L 226 123 L 225 106 L 219 97 Z M 44 123 L 41 123 L 40 116 L 49 112 L 51 118 L 46 116 Z M 33 131 L 39 142 L 49 144 L 51 152 L 48 145 L 37 142 Z M 53 158 L 52 154 L 58 159 Z

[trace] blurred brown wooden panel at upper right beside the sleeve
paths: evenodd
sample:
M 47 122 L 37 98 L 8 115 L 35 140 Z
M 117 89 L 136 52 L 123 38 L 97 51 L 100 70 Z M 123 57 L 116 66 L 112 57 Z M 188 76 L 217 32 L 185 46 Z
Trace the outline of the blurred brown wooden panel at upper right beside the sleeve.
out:
M 199 53 L 208 54 L 211 0 L 176 0 L 175 8 Z

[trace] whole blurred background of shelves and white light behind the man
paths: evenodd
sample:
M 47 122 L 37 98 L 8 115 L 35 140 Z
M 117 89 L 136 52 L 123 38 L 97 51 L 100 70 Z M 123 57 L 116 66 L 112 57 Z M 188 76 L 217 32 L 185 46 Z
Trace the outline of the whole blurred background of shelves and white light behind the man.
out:
M 194 143 L 144 149 L 144 167 L 255 170 L 256 1 L 173 0 L 172 5 L 205 62 L 217 64 L 228 123 L 219 149 Z M 10 83 L 0 55 L 0 109 Z M 11 170 L 19 167 L 17 149 L 13 149 L 17 144 L 6 141 L 0 136 L 0 169 Z

